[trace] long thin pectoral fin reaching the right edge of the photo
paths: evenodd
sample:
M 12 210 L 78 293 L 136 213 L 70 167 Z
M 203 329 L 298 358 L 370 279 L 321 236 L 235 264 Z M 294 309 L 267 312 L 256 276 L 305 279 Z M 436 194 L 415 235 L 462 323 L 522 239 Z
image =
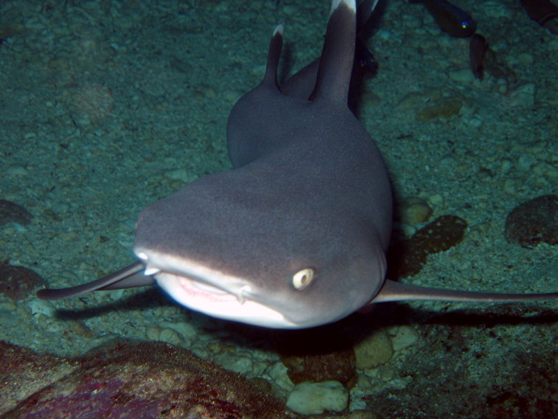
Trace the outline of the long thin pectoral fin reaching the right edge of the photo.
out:
M 558 298 L 558 293 L 510 294 L 455 291 L 444 290 L 442 288 L 399 284 L 398 282 L 387 279 L 382 289 L 372 298 L 370 303 L 409 300 L 511 302 L 553 300 L 555 298 Z

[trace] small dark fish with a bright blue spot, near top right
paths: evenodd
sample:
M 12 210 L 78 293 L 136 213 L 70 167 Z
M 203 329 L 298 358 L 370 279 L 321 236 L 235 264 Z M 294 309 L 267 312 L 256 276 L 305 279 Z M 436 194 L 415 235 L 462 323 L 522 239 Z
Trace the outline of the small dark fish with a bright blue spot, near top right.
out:
M 409 0 L 423 3 L 443 31 L 451 36 L 465 38 L 475 33 L 476 22 L 465 11 L 445 0 Z

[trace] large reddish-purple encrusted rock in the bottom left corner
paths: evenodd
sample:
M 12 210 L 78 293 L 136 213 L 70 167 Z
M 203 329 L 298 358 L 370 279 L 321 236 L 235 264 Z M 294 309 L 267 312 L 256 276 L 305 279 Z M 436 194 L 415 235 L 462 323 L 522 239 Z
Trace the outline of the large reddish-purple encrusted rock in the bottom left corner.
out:
M 243 376 L 163 342 L 118 341 L 75 360 L 0 342 L 0 365 L 1 419 L 296 417 Z

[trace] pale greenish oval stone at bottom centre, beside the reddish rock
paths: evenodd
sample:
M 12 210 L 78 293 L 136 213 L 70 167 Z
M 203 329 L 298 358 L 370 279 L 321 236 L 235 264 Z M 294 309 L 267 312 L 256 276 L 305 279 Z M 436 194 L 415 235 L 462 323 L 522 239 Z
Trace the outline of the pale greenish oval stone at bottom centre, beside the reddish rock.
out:
M 287 408 L 301 415 L 340 412 L 349 404 L 349 392 L 339 381 L 297 384 L 287 399 Z

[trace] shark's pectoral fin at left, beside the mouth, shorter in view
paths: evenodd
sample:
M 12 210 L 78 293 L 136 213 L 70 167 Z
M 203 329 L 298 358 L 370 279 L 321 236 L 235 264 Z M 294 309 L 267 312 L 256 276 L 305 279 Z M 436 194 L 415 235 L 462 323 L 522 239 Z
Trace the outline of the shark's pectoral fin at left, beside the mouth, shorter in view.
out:
M 41 300 L 63 300 L 63 298 L 74 297 L 89 293 L 90 291 L 116 290 L 120 288 L 133 288 L 136 286 L 154 285 L 153 277 L 143 274 L 144 265 L 141 262 L 133 263 L 123 269 L 116 271 L 106 277 L 96 279 L 70 288 L 46 289 L 37 291 L 37 297 Z

